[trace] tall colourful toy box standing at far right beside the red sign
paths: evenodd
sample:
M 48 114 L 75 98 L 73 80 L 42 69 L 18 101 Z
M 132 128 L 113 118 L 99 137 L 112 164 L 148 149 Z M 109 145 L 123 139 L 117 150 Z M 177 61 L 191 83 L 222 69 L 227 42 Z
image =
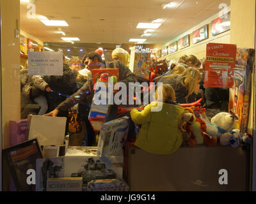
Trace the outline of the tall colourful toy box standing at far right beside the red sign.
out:
M 228 111 L 236 116 L 234 128 L 240 129 L 241 133 L 247 131 L 253 64 L 254 50 L 237 48 L 234 84 L 230 89 Z

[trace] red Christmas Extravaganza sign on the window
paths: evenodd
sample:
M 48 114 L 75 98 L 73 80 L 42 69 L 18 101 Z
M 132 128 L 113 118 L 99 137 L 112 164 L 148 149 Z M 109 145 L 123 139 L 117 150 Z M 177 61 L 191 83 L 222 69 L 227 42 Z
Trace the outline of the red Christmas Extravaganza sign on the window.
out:
M 205 61 L 205 87 L 231 88 L 234 85 L 236 45 L 208 43 Z

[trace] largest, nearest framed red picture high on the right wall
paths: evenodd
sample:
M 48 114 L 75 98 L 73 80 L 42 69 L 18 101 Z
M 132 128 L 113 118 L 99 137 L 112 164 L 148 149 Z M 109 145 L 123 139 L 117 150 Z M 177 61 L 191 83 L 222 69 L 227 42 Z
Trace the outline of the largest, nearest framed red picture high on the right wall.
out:
M 212 21 L 212 36 L 230 30 L 230 11 Z

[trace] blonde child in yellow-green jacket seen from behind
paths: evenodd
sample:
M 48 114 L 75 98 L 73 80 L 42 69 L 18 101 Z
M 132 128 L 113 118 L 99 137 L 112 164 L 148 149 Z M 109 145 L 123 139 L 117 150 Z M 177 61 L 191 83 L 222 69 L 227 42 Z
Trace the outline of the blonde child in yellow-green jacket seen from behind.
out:
M 145 106 L 141 112 L 136 109 L 131 111 L 132 120 L 142 125 L 135 145 L 153 154 L 172 154 L 182 144 L 180 128 L 184 122 L 184 108 L 173 102 L 175 92 L 171 85 L 161 87 L 155 93 L 157 101 Z M 161 110 L 154 110 L 157 107 Z

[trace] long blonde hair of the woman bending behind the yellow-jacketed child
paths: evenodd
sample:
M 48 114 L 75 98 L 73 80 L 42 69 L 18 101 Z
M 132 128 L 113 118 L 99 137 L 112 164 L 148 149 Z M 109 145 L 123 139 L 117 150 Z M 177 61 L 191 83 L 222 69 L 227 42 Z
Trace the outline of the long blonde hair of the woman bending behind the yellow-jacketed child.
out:
M 188 102 L 188 97 L 195 91 L 196 84 L 198 84 L 198 81 L 202 80 L 202 75 L 198 69 L 190 67 L 187 68 L 181 76 L 183 79 L 182 85 L 188 89 L 188 95 L 186 97 L 186 101 Z

